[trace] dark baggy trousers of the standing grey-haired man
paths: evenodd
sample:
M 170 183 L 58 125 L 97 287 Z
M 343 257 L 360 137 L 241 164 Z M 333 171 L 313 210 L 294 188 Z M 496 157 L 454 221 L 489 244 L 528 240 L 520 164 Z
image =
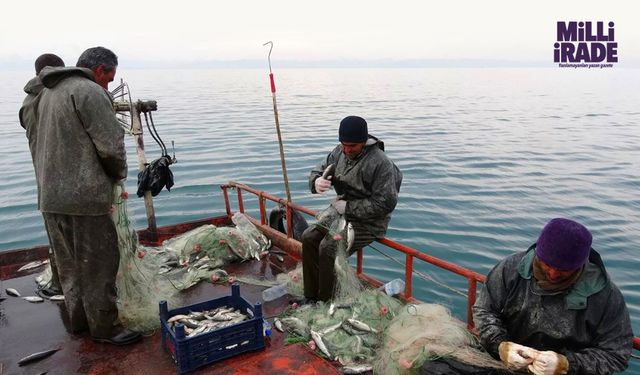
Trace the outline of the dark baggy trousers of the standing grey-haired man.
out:
M 118 318 L 115 282 L 120 252 L 111 216 L 43 216 L 71 331 L 89 329 L 94 337 L 112 336 Z

